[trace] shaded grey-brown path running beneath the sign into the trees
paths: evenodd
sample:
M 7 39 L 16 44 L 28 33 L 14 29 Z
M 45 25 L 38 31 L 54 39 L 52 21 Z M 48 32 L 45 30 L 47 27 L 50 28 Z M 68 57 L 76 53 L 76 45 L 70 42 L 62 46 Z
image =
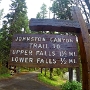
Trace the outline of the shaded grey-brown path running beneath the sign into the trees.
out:
M 38 81 L 37 73 L 31 72 L 0 80 L 0 90 L 58 90 Z

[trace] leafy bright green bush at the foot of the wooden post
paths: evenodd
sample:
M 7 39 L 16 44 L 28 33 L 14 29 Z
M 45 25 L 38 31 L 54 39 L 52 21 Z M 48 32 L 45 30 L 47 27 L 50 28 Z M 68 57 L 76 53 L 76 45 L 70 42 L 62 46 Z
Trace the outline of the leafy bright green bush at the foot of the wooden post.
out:
M 82 90 L 82 85 L 77 81 L 67 81 L 61 86 L 61 90 Z

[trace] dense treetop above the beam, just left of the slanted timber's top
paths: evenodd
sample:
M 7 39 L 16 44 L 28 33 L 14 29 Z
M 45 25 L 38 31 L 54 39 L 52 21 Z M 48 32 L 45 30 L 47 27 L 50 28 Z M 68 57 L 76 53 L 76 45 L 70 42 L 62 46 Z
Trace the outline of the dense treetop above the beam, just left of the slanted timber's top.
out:
M 70 0 L 54 0 L 50 10 L 54 14 L 54 18 L 71 19 Z

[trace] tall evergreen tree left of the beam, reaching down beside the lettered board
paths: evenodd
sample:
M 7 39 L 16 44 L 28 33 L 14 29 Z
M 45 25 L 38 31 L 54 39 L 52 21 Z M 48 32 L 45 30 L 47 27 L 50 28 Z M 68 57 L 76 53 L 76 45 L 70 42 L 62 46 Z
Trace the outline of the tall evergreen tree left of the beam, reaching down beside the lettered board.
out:
M 11 1 L 10 13 L 5 16 L 7 20 L 3 21 L 3 27 L 0 30 L 0 60 L 2 63 L 4 62 L 4 65 L 9 60 L 13 34 L 29 33 L 25 0 Z

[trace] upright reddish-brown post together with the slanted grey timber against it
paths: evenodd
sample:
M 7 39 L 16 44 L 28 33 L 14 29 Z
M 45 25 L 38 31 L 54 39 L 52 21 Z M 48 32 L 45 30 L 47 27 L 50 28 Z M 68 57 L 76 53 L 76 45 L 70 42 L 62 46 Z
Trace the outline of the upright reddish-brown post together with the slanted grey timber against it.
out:
M 83 90 L 90 90 L 90 37 L 80 9 L 78 7 L 73 7 L 73 12 L 81 28 L 81 32 L 78 34 L 78 41 L 82 63 Z

